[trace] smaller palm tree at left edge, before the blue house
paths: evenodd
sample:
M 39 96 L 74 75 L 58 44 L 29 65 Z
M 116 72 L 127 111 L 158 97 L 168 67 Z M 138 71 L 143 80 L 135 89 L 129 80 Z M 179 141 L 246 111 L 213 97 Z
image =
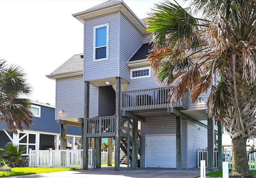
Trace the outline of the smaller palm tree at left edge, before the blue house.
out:
M 17 129 L 23 131 L 23 124 L 27 128 L 32 124 L 30 101 L 21 98 L 30 93 L 31 87 L 21 67 L 8 67 L 6 61 L 0 60 L 0 123 L 4 121 L 8 131 L 18 133 Z

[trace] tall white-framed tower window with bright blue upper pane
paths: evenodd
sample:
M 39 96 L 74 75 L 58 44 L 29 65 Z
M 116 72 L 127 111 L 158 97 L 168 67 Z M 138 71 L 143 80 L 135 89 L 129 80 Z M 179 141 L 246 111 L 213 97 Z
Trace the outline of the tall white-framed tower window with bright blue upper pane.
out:
M 93 27 L 93 61 L 108 60 L 108 23 Z

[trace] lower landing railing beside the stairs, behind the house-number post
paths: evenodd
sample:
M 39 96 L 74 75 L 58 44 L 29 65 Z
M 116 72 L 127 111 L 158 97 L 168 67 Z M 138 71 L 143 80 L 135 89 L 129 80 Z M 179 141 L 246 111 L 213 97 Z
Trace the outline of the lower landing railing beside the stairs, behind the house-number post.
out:
M 120 137 L 128 137 L 132 132 L 132 121 L 125 117 L 120 117 Z M 116 116 L 86 118 L 88 137 L 114 137 Z

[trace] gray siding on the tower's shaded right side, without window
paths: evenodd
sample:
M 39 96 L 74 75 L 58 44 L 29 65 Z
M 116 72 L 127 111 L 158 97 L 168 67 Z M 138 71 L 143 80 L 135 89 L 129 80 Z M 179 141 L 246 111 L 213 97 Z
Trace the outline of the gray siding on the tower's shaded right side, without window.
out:
M 130 68 L 126 62 L 143 43 L 142 34 L 120 14 L 120 77 L 130 81 Z

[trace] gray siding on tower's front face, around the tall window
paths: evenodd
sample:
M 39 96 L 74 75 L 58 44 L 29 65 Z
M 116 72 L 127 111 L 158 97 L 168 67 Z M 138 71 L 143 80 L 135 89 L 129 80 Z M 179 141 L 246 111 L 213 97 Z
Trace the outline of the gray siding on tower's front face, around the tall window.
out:
M 93 27 L 106 23 L 109 23 L 109 60 L 93 62 Z M 118 76 L 118 13 L 86 20 L 84 25 L 84 81 Z

